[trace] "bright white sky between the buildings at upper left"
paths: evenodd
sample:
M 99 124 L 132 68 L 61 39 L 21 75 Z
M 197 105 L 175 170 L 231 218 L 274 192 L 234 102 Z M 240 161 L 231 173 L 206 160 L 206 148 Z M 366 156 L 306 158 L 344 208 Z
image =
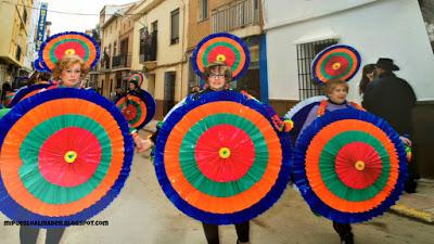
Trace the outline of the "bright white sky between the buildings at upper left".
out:
M 85 31 L 94 28 L 100 20 L 100 11 L 106 4 L 120 5 L 133 0 L 41 0 L 48 2 L 47 21 L 51 22 L 51 35 L 62 31 Z M 77 15 L 55 13 L 52 11 L 84 13 L 93 15 Z

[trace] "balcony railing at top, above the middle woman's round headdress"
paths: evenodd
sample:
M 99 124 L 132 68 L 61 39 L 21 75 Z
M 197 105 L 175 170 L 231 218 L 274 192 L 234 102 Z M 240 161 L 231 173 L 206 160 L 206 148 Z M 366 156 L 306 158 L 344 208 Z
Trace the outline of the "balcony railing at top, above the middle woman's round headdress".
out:
M 213 12 L 213 33 L 259 25 L 259 0 L 243 0 Z

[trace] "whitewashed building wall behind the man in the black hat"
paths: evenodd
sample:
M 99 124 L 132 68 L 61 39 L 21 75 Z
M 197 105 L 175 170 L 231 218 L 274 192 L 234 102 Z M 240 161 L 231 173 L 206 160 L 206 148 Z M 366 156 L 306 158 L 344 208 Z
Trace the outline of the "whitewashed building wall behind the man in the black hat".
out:
M 434 100 L 434 55 L 417 0 L 273 0 L 265 13 L 271 100 L 298 100 L 296 44 L 330 37 L 356 48 L 362 65 L 393 59 L 418 100 Z M 350 100 L 360 99 L 360 76 L 361 68 L 349 81 Z

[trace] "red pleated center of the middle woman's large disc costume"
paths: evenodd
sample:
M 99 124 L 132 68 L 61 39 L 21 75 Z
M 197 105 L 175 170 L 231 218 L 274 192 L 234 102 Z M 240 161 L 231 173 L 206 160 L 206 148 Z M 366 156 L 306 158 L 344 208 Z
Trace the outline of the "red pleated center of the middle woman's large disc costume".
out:
M 230 150 L 230 156 L 220 156 L 220 149 Z M 231 125 L 214 126 L 197 140 L 195 159 L 202 174 L 217 182 L 242 178 L 255 159 L 255 146 L 248 134 Z

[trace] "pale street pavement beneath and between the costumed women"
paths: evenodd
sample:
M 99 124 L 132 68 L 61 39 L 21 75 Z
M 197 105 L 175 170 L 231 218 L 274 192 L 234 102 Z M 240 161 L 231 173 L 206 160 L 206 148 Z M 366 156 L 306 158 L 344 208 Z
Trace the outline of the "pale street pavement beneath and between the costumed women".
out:
M 145 134 L 142 134 L 145 136 Z M 62 244 L 205 244 L 202 226 L 184 216 L 159 188 L 148 154 L 136 154 L 131 174 L 119 196 L 93 220 L 104 227 L 66 229 Z M 0 214 L 0 221 L 7 220 Z M 38 244 L 44 242 L 41 231 Z M 357 244 L 431 244 L 434 226 L 393 213 L 354 224 Z M 0 227 L 1 244 L 18 244 L 18 227 Z M 234 244 L 232 226 L 220 227 L 222 244 Z M 339 244 L 330 220 L 311 214 L 296 191 L 288 188 L 267 213 L 251 224 L 252 244 Z

